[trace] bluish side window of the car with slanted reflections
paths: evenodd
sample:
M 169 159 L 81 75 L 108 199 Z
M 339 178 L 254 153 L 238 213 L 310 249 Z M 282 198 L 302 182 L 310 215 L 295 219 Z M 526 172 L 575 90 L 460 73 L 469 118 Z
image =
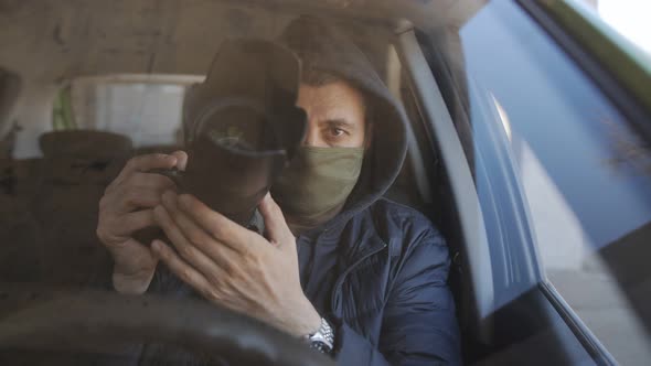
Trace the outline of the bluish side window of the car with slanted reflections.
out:
M 459 36 L 482 208 L 508 217 L 513 202 L 521 203 L 522 215 L 503 225 L 529 228 L 534 272 L 540 266 L 542 280 L 618 362 L 644 364 L 651 357 L 649 303 L 641 300 L 651 280 L 649 140 L 523 11 L 492 2 Z M 495 186 L 491 176 L 502 174 L 511 174 L 510 186 Z M 509 235 L 497 225 L 488 230 Z M 517 288 L 513 273 L 522 259 L 492 259 L 501 268 L 495 286 Z

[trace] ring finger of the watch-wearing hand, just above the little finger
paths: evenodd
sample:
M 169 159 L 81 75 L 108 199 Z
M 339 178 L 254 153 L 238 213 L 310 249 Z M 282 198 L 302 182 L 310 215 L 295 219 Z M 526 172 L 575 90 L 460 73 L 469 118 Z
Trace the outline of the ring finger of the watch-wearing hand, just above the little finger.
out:
M 217 283 L 224 278 L 224 270 L 220 268 L 218 263 L 192 245 L 183 233 L 181 233 L 181 229 L 175 225 L 164 207 L 157 206 L 153 209 L 153 216 L 156 223 L 163 229 L 170 241 L 172 241 L 181 258 L 196 268 L 211 282 Z

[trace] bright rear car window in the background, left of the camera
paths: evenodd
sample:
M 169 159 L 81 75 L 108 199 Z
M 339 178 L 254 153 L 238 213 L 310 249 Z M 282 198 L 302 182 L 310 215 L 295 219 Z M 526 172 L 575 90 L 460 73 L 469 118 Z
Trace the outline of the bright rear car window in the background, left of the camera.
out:
M 179 146 L 188 85 L 201 76 L 111 75 L 79 77 L 61 88 L 53 130 L 98 130 L 125 134 L 134 146 Z

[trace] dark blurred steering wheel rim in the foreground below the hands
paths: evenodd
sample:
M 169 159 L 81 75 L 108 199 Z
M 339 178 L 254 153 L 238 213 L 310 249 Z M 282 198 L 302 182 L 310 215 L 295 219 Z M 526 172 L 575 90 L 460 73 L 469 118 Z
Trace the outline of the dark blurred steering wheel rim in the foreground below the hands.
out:
M 25 284 L 0 289 L 0 351 L 113 354 L 128 345 L 157 343 L 230 364 L 334 365 L 300 340 L 200 300 Z

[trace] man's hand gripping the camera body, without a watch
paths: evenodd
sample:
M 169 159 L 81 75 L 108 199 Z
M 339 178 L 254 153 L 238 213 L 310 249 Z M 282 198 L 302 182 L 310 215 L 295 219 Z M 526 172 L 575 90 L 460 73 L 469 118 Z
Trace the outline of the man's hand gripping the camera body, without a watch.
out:
M 113 286 L 121 293 L 143 293 L 156 271 L 158 259 L 150 243 L 139 243 L 135 232 L 154 226 L 153 207 L 162 194 L 174 190 L 169 177 L 148 173 L 154 169 L 184 170 L 188 154 L 147 154 L 132 158 L 110 183 L 99 201 L 97 236 L 115 261 Z

